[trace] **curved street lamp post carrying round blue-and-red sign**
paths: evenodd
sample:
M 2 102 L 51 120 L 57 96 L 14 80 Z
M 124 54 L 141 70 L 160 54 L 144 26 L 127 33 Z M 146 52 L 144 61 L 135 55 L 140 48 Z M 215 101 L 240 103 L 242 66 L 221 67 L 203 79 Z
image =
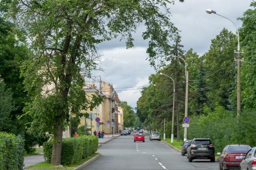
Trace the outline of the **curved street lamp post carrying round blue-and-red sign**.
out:
M 189 96 L 189 71 L 187 71 L 187 62 L 180 56 L 174 56 L 174 58 L 180 58 L 185 64 L 185 76 L 186 76 L 186 93 L 185 93 L 185 117 L 187 117 L 187 100 Z M 187 140 L 187 127 L 184 127 L 184 141 Z

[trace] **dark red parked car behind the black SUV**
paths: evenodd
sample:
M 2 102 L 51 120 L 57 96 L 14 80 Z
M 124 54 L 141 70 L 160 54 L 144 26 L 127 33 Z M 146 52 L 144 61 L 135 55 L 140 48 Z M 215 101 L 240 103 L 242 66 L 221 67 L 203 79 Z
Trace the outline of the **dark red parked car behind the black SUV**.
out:
M 251 149 L 249 145 L 227 145 L 219 156 L 219 169 L 239 169 L 246 153 Z

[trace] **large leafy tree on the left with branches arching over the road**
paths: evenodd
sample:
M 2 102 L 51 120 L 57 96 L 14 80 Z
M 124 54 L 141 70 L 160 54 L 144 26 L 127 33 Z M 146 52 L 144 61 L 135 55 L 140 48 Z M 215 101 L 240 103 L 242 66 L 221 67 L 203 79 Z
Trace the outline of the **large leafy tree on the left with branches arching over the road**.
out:
M 171 49 L 177 28 L 170 22 L 168 0 L 4 0 L 8 14 L 29 38 L 34 55 L 23 64 L 25 88 L 33 96 L 26 106 L 32 127 L 53 134 L 52 165 L 61 160 L 62 130 L 70 112 L 91 104 L 85 98 L 81 72 L 96 68 L 96 44 L 121 35 L 133 46 L 132 32 L 144 23 L 149 60 Z M 95 98 L 96 99 L 96 98 Z M 98 101 L 99 103 L 99 101 Z

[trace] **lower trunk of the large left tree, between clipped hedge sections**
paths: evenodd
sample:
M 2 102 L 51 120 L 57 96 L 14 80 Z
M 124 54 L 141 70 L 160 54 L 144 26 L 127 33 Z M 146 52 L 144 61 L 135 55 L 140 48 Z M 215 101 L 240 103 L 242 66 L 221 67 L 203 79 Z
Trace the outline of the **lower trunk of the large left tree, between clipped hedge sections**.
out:
M 50 165 L 61 165 L 61 147 L 62 147 L 62 125 L 55 127 L 57 136 L 53 138 L 52 159 Z

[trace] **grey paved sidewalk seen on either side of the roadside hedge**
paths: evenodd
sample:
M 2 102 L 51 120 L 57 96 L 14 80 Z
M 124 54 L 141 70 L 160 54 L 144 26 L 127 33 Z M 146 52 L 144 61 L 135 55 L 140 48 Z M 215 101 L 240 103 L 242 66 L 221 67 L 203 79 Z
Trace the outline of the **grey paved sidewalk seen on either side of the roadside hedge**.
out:
M 105 135 L 104 138 L 99 138 L 99 147 L 100 147 L 100 145 L 106 144 L 107 142 L 111 141 L 112 139 L 117 138 L 118 136 L 120 136 L 120 134 L 116 133 L 113 135 L 113 137 L 112 137 L 112 134 L 109 134 L 109 135 Z M 44 162 L 43 154 L 26 156 L 26 157 L 24 157 L 24 167 L 23 168 L 27 168 L 28 166 L 35 165 L 40 162 Z

